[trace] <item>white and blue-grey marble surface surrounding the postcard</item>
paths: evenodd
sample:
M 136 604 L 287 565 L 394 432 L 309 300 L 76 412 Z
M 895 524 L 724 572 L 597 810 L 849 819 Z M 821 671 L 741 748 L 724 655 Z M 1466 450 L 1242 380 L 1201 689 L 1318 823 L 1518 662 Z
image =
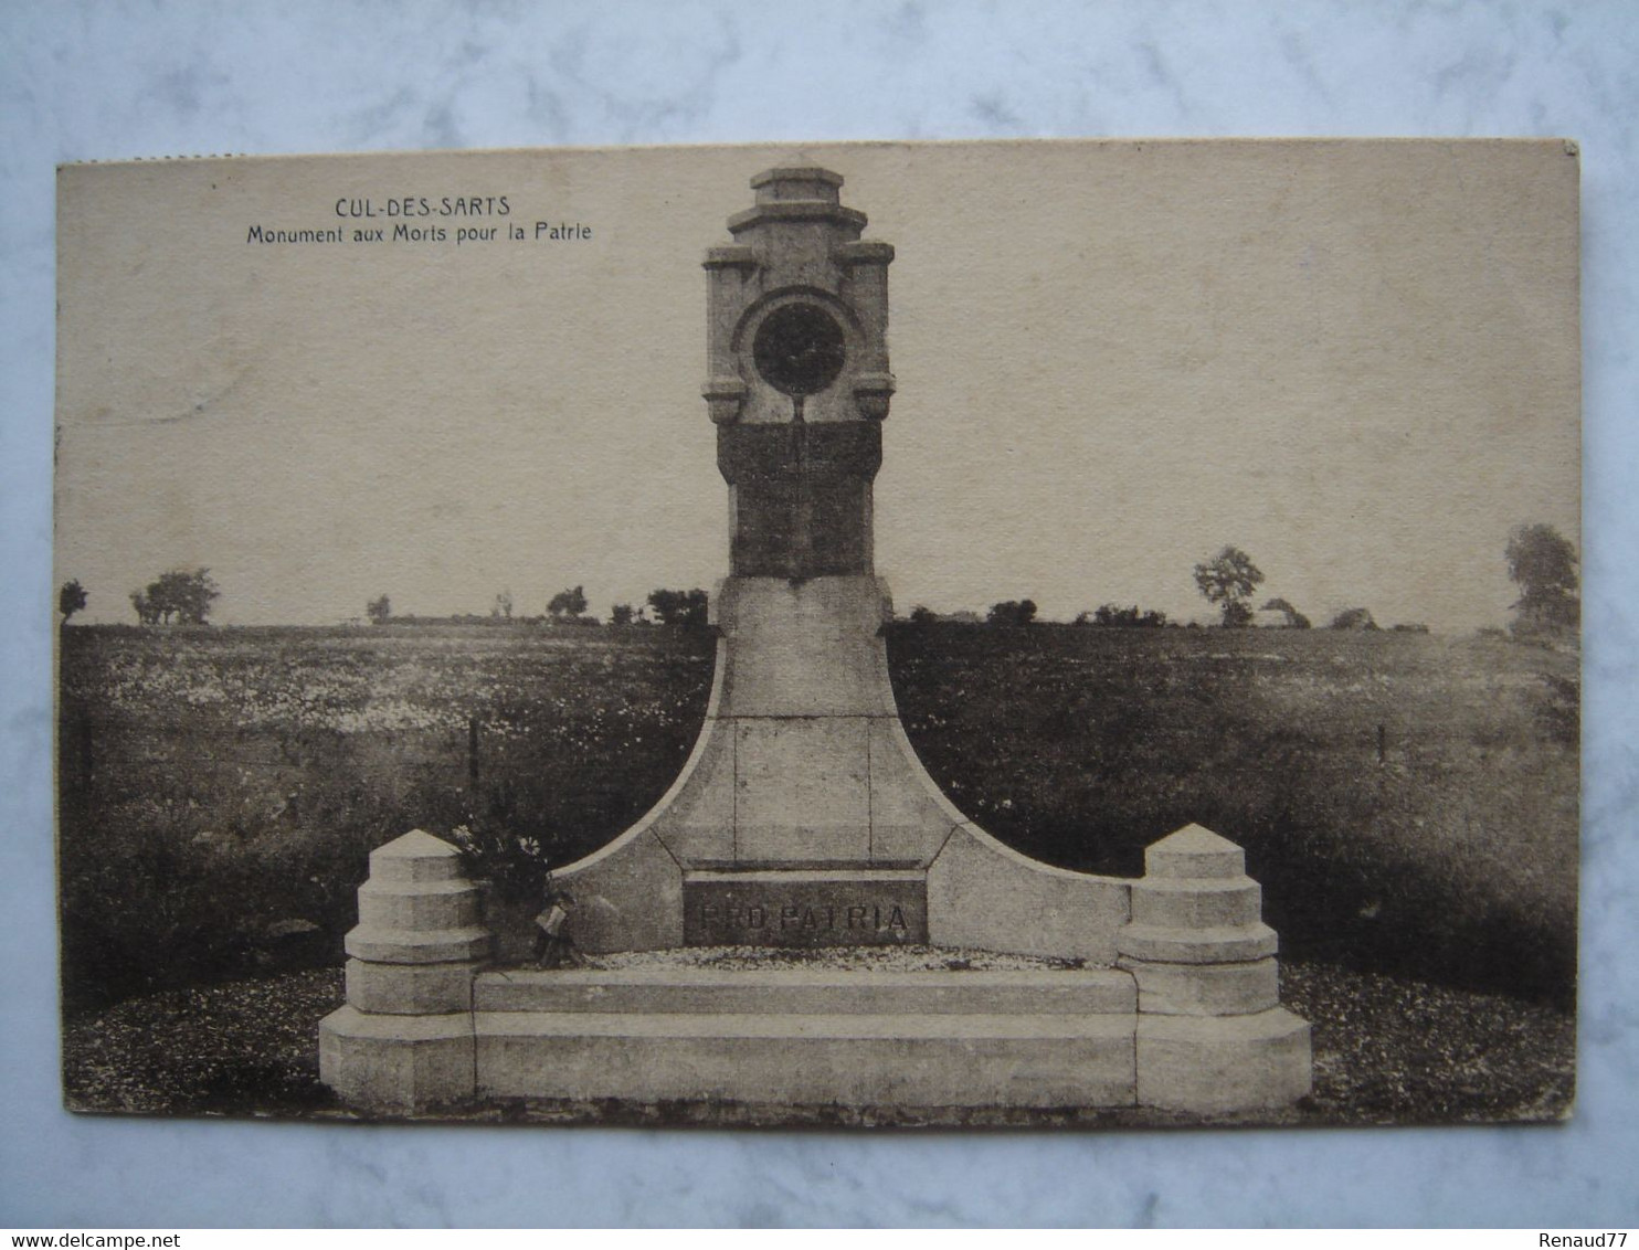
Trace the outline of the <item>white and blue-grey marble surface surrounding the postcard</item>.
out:
M 0 5 L 0 1224 L 1639 1222 L 1639 7 Z M 1532 134 L 1583 151 L 1577 1119 L 1552 1129 L 665 1134 L 74 1119 L 51 858 L 52 167 L 200 152 Z

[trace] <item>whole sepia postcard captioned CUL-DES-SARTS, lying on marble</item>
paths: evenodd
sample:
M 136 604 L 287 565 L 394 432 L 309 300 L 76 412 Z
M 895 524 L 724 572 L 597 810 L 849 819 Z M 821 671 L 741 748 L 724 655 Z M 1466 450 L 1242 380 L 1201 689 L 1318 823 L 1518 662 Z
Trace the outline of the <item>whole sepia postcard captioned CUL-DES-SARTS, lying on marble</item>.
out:
M 1555 1121 L 1567 141 L 59 175 L 64 1099 Z

